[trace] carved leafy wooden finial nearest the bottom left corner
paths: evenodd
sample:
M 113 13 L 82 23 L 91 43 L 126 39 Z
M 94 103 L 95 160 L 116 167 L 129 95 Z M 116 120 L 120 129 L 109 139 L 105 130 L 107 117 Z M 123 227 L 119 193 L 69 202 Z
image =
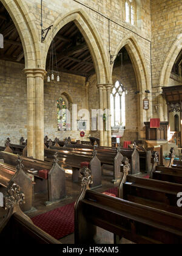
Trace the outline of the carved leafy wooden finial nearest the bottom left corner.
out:
M 25 204 L 25 195 L 16 183 L 10 182 L 7 188 L 7 196 L 4 197 L 5 210 L 12 209 L 21 204 Z

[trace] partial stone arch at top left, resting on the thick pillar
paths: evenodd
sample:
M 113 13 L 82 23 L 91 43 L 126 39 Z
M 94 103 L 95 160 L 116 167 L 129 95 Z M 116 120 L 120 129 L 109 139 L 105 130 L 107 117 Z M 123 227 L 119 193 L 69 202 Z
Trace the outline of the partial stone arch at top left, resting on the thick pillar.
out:
M 25 68 L 41 68 L 39 35 L 35 16 L 24 0 L 0 0 L 11 16 L 21 38 L 25 56 Z

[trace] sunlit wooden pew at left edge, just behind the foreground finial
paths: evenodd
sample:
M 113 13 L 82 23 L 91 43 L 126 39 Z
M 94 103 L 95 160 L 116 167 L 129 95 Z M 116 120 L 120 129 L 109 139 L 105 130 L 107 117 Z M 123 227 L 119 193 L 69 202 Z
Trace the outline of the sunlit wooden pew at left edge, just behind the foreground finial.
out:
M 22 165 L 21 158 L 16 158 L 15 166 L 16 167 L 0 163 L 0 190 L 4 190 L 4 187 L 7 188 L 7 184 L 10 181 L 17 183 L 21 190 L 24 190 L 24 194 L 27 198 L 26 204 L 22 206 L 22 210 L 24 212 L 29 212 L 30 210 L 32 210 L 32 180 L 29 176 L 27 176 L 27 174 L 25 174 L 24 165 Z

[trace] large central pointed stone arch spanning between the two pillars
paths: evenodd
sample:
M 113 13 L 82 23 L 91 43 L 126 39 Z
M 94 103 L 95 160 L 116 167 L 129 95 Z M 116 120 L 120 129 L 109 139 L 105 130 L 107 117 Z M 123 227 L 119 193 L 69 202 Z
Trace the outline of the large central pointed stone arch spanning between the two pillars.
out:
M 110 82 L 110 65 L 109 58 L 106 54 L 106 49 L 99 36 L 98 30 L 90 20 L 89 16 L 82 9 L 76 9 L 73 12 L 69 12 L 53 24 L 54 35 L 56 35 L 62 27 L 71 21 L 75 22 L 76 26 L 83 34 L 84 39 L 89 47 L 90 54 L 92 55 L 93 63 L 95 66 L 97 82 L 98 84 L 107 84 Z M 45 53 L 44 53 L 44 66 L 47 58 L 47 52 L 52 41 L 52 35 L 45 40 Z

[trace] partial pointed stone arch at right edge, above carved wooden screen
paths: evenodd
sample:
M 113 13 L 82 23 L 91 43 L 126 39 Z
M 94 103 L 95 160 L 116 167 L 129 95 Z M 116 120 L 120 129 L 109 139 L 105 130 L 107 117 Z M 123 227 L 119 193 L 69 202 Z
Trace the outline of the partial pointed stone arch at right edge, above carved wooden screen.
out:
M 175 63 L 175 60 L 178 57 L 182 48 L 182 34 L 177 36 L 177 39 L 174 41 L 172 46 L 170 47 L 166 59 L 164 60 L 163 68 L 160 73 L 160 82 L 159 85 L 161 87 L 165 87 L 169 85 L 170 73 L 172 71 L 172 66 Z

